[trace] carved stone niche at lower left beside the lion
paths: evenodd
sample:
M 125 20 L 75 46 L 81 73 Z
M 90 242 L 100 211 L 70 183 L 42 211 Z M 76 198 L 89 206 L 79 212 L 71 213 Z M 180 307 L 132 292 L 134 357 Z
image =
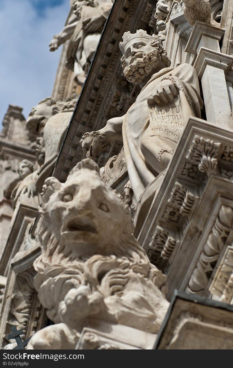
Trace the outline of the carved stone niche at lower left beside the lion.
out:
M 33 286 L 36 275 L 33 261 L 38 255 L 38 245 L 34 245 L 26 251 L 18 252 L 11 259 L 0 322 L 1 346 L 4 350 L 13 349 L 17 345 L 14 339 L 7 339 L 13 326 L 18 330 L 23 329 L 23 341 L 46 326 L 46 311 Z

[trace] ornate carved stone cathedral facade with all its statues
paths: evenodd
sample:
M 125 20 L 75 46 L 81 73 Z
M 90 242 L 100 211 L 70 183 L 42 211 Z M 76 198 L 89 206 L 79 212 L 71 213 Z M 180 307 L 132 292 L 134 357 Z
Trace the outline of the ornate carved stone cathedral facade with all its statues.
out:
M 70 3 L 0 134 L 2 349 L 231 349 L 232 4 Z

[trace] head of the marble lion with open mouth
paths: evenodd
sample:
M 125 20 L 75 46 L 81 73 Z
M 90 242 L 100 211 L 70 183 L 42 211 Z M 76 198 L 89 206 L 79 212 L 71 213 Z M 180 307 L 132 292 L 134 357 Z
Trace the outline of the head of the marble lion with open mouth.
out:
M 38 236 L 47 265 L 86 261 L 95 254 L 133 259 L 137 253 L 148 261 L 132 235 L 127 204 L 106 186 L 93 160 L 79 162 L 65 183 L 47 178 L 43 193 Z

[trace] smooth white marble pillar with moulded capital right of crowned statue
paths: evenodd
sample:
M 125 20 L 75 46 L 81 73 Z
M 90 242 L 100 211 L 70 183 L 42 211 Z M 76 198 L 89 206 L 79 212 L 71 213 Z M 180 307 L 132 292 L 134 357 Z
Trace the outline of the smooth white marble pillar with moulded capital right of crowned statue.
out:
M 220 51 L 219 41 L 223 35 L 224 29 L 197 21 L 186 51 L 197 55 L 193 66 L 202 84 L 206 120 L 233 130 L 232 88 L 226 81 L 233 57 Z

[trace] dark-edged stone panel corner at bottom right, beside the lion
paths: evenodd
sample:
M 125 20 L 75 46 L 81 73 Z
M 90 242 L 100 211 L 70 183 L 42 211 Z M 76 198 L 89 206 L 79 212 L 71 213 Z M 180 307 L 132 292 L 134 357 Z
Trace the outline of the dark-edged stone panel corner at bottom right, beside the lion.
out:
M 154 348 L 232 349 L 233 306 L 176 291 Z

